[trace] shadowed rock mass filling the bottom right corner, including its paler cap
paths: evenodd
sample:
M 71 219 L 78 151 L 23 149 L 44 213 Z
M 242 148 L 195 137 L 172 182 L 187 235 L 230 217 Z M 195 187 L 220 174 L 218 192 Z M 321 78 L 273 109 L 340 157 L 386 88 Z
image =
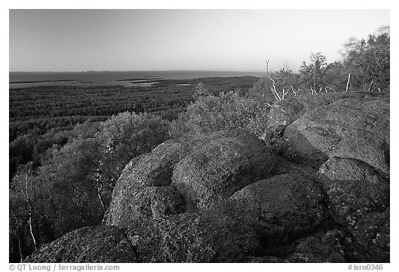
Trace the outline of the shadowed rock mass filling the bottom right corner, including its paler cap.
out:
M 389 181 L 371 165 L 330 158 L 317 173 L 334 221 L 348 233 L 357 262 L 389 262 Z

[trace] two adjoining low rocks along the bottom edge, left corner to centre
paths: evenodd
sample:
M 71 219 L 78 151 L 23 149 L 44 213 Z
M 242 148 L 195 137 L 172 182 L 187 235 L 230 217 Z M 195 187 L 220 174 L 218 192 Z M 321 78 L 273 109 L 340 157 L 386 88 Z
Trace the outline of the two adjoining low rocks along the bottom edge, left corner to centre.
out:
M 124 231 L 80 228 L 25 262 L 247 262 L 260 252 L 256 232 L 234 219 L 195 214 L 141 219 Z

